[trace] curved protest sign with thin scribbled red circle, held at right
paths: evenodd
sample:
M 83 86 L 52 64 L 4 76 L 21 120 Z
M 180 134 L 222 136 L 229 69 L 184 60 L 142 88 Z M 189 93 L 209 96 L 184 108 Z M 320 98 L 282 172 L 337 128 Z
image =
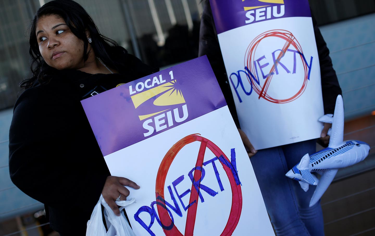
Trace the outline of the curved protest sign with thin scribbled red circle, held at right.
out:
M 241 129 L 255 149 L 320 137 L 321 78 L 308 0 L 210 0 Z

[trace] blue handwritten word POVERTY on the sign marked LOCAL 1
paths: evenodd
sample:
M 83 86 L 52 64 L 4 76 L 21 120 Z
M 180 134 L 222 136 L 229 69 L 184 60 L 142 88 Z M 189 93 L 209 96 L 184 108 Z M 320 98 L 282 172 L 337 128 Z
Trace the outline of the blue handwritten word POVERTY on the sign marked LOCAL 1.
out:
M 211 160 L 203 162 L 203 164 L 202 164 L 203 166 L 207 166 L 207 165 L 212 166 L 213 171 L 214 171 L 215 176 L 216 176 L 217 184 L 219 185 L 219 188 L 220 188 L 220 191 L 224 191 L 224 187 L 223 187 L 223 184 L 221 182 L 219 172 L 218 172 L 216 164 L 215 164 L 216 161 L 219 161 L 219 163 L 222 164 L 223 168 L 229 168 L 230 169 L 236 185 L 241 184 L 239 176 L 237 174 L 236 152 L 235 152 L 234 148 L 231 149 L 231 161 L 230 162 L 228 160 L 226 160 L 223 157 L 223 155 L 220 155 L 219 157 L 214 157 Z M 196 180 L 193 176 L 193 175 L 195 175 L 196 171 L 201 172 L 201 177 L 198 180 Z M 194 174 L 193 174 L 193 172 L 194 172 Z M 193 194 L 193 191 L 195 191 L 195 193 L 198 193 L 198 196 L 199 196 L 199 199 L 200 199 L 201 203 L 203 203 L 205 201 L 204 197 L 202 196 L 202 191 L 206 192 L 208 195 L 210 195 L 212 197 L 214 197 L 218 194 L 218 192 L 216 192 L 213 189 L 211 189 L 210 187 L 202 184 L 202 181 L 203 181 L 204 176 L 205 176 L 205 169 L 202 166 L 194 167 L 192 170 L 189 171 L 187 176 L 189 176 L 189 179 L 192 182 L 192 189 L 191 190 L 187 189 L 183 193 L 178 193 L 178 191 L 176 189 L 176 186 L 184 180 L 184 178 L 185 178 L 184 175 L 181 175 L 180 177 L 178 177 L 177 179 L 172 181 L 172 186 L 173 186 L 174 192 L 172 191 L 171 185 L 169 185 L 167 187 L 169 195 L 172 199 L 173 205 L 171 203 L 167 202 L 165 199 L 163 199 L 163 197 L 157 196 L 156 201 L 151 202 L 150 206 L 142 206 L 135 213 L 134 219 L 145 230 L 147 230 L 147 232 L 151 236 L 155 236 L 155 234 L 151 230 L 151 226 L 153 226 L 155 219 L 156 219 L 157 223 L 160 225 L 160 227 L 162 227 L 163 230 L 171 230 L 174 227 L 174 218 L 173 218 L 171 210 L 173 212 L 175 212 L 175 214 L 177 214 L 179 217 L 183 216 L 183 212 L 181 211 L 181 208 L 177 203 L 177 200 L 176 200 L 176 197 L 175 197 L 174 193 L 176 194 L 179 202 L 181 203 L 181 207 L 184 209 L 185 212 L 187 211 L 187 209 L 189 209 L 190 207 L 197 204 L 196 200 L 193 200 L 187 206 L 185 206 L 185 204 L 183 203 L 182 198 L 184 196 L 186 196 L 187 194 L 189 194 L 190 192 L 192 192 L 191 194 Z M 160 221 L 158 213 L 155 211 L 154 205 L 159 205 L 162 208 L 166 209 L 166 211 L 168 211 L 168 214 L 171 217 L 171 224 L 169 226 L 165 226 L 162 223 L 162 221 Z M 148 225 L 139 217 L 139 214 L 141 214 L 141 212 L 147 212 L 150 215 L 150 223 Z M 159 214 L 160 214 L 160 212 L 159 212 Z

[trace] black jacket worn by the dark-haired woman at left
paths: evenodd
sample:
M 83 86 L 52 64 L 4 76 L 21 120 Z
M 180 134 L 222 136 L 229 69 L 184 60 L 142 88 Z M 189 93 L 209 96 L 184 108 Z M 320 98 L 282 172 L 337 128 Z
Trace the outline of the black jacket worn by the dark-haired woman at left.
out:
M 85 235 L 110 175 L 80 100 L 94 88 L 108 90 L 156 72 L 121 47 L 112 51 L 113 59 L 126 64 L 119 74 L 58 71 L 48 84 L 26 89 L 14 106 L 10 178 L 48 207 L 52 229 L 62 234 Z

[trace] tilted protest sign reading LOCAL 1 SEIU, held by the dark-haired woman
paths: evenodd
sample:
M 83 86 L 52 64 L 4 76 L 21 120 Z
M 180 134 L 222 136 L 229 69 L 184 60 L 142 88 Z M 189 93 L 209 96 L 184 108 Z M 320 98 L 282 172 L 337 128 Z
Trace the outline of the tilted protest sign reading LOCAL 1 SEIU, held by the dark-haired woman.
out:
M 207 57 L 82 101 L 111 175 L 135 181 L 138 236 L 274 235 Z

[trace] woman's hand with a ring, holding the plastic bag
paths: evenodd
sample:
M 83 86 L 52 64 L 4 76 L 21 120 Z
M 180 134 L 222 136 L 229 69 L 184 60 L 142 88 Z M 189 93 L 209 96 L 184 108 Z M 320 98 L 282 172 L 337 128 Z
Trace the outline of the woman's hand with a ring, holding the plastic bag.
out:
M 116 199 L 121 194 L 120 200 L 124 201 L 130 194 L 129 190 L 124 186 L 129 186 L 134 189 L 140 188 L 138 184 L 127 178 L 108 176 L 102 191 L 105 202 L 107 202 L 108 206 L 110 206 L 114 214 L 116 214 L 117 216 L 120 216 L 120 211 L 118 210 L 118 206 L 115 202 Z

